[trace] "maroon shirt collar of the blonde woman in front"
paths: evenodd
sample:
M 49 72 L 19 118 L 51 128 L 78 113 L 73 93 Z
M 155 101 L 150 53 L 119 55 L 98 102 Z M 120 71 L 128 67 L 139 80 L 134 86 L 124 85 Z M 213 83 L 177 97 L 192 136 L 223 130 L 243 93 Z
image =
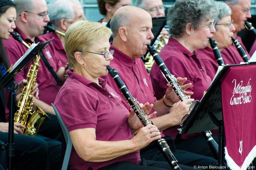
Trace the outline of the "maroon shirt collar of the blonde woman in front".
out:
M 91 84 L 92 86 L 94 86 L 94 84 L 96 84 L 95 82 L 92 82 L 91 80 L 77 74 L 73 72 L 73 69 L 68 69 L 67 70 L 67 75 L 69 75 L 70 78 L 75 79 L 83 84 L 85 84 L 86 86 L 88 86 L 89 84 Z M 107 84 L 107 79 L 104 80 L 101 77 L 99 77 L 99 83 L 101 83 L 100 85 L 102 86 L 102 88 L 105 88 L 106 84 Z M 98 86 L 98 84 L 96 84 Z

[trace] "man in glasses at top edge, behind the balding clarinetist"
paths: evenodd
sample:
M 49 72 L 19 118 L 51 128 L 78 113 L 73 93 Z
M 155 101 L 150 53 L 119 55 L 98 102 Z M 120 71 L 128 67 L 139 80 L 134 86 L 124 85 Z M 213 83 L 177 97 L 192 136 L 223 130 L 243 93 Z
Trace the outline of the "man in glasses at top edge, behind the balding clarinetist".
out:
M 142 8 L 147 11 L 151 18 L 165 16 L 165 7 L 163 6 L 162 0 L 135 0 L 134 6 Z M 160 32 L 161 35 L 165 35 L 168 39 L 168 31 L 165 28 Z

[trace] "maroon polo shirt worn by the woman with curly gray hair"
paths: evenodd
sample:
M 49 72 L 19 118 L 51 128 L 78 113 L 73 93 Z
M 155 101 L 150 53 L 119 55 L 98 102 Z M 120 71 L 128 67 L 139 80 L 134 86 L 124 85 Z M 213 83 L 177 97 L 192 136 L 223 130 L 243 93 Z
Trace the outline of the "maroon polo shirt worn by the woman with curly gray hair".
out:
M 203 92 L 210 86 L 211 78 L 206 74 L 205 67 L 198 54 L 196 52 L 191 53 L 177 40 L 169 37 L 168 43 L 163 47 L 159 56 L 162 58 L 171 74 L 175 75 L 176 78 L 186 77 L 186 84 L 192 83 L 192 86 L 186 90 L 194 92 L 191 98 L 201 100 Z M 168 86 L 165 77 L 162 75 L 156 63 L 153 64 L 150 70 L 150 78 L 155 91 L 155 97 L 161 99 L 165 95 Z M 177 128 L 178 126 L 174 126 L 166 129 L 163 133 L 175 138 L 179 133 Z M 194 135 L 195 134 L 182 134 L 182 138 L 186 139 Z

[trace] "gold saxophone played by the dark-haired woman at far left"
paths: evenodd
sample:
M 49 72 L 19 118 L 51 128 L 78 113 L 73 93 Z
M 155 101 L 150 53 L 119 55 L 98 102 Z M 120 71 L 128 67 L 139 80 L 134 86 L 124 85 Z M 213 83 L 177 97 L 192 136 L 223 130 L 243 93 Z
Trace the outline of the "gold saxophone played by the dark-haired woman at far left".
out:
M 18 39 L 15 39 L 20 41 L 22 44 L 24 44 L 27 48 L 29 48 L 29 45 L 26 44 L 19 36 L 18 33 L 12 34 L 13 36 L 17 36 Z M 33 87 L 36 82 L 37 78 L 37 68 L 40 66 L 39 63 L 40 55 L 37 55 L 35 58 L 34 63 L 30 66 L 29 72 L 27 73 L 27 80 L 25 83 L 25 86 L 22 90 L 22 95 L 19 99 L 19 102 L 17 104 L 18 110 L 14 114 L 14 122 L 15 123 L 21 123 L 22 125 L 27 126 L 26 130 L 24 131 L 23 128 L 21 128 L 22 132 L 25 135 L 35 136 L 37 134 L 37 131 L 41 124 L 45 120 L 51 120 L 49 116 L 45 112 L 42 111 L 38 106 L 36 110 L 31 113 L 32 107 L 33 107 Z M 29 119 L 29 120 L 28 120 Z M 28 121 L 27 121 L 28 120 Z

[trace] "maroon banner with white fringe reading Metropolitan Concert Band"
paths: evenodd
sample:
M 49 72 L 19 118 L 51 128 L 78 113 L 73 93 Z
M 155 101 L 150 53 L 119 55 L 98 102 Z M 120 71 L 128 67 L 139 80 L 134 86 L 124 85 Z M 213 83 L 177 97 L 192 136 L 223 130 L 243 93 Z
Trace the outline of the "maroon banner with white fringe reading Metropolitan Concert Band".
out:
M 232 170 L 246 170 L 256 157 L 256 65 L 230 67 L 222 79 L 225 159 Z

